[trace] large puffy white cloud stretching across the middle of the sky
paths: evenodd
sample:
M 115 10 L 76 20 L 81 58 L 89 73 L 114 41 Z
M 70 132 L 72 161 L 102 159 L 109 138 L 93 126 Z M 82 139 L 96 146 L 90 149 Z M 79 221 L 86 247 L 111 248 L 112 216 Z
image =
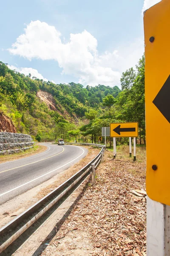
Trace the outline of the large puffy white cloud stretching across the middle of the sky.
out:
M 55 60 L 62 74 L 73 75 L 85 85 L 114 86 L 120 84 L 123 71 L 137 64 L 144 51 L 143 45 L 140 38 L 129 46 L 99 55 L 96 38 L 86 30 L 71 34 L 70 41 L 63 43 L 61 33 L 54 26 L 37 20 L 26 26 L 25 33 L 8 51 L 30 61 L 33 58 Z

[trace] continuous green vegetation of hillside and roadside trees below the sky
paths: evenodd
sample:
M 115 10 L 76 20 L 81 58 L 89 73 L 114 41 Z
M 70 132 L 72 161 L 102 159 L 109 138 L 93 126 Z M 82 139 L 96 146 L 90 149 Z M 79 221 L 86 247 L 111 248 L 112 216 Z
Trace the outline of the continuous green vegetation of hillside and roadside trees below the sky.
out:
M 49 93 L 56 110 L 38 92 Z M 121 90 L 99 84 L 54 84 L 10 70 L 0 61 L 0 111 L 12 119 L 17 132 L 40 141 L 97 143 L 102 127 L 111 122 L 139 122 L 139 144 L 145 144 L 144 55 L 122 73 Z M 108 145 L 112 139 L 107 137 Z M 127 143 L 123 139 L 120 144 Z

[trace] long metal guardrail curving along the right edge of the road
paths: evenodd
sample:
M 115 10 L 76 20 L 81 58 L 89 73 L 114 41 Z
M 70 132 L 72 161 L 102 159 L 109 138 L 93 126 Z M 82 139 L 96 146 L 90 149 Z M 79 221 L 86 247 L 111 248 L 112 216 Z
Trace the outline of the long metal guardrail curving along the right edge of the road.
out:
M 0 253 L 5 252 L 17 238 L 19 238 L 29 227 L 31 227 L 42 215 L 48 212 L 60 200 L 65 200 L 67 194 L 71 194 L 92 172 L 92 183 L 95 183 L 95 168 L 103 160 L 105 146 L 92 143 L 68 143 L 74 145 L 92 145 L 100 147 L 99 154 L 84 168 L 79 170 L 70 179 L 40 199 L 36 204 L 14 218 L 0 229 Z

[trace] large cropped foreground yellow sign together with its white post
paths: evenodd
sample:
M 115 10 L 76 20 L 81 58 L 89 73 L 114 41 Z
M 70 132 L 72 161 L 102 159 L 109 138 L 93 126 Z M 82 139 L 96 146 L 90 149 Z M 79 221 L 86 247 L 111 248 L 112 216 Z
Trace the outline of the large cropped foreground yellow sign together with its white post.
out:
M 170 255 L 170 1 L 144 12 L 147 256 Z M 161 135 L 162 154 L 157 138 Z

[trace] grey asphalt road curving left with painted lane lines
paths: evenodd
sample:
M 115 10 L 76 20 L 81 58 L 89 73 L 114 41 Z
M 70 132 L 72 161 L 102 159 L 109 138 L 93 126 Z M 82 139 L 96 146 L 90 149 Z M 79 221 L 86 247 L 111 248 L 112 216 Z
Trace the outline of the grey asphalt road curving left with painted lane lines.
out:
M 42 145 L 48 149 L 40 154 L 0 164 L 0 204 L 68 169 L 88 152 L 79 146 Z

